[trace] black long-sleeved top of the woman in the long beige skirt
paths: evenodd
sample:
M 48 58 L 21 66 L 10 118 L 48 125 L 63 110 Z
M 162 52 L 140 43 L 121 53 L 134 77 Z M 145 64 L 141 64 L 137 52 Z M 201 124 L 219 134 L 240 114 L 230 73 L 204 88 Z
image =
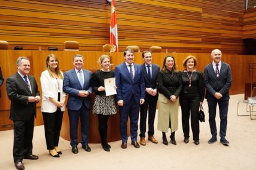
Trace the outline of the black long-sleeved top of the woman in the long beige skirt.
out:
M 158 72 L 158 91 L 168 99 L 171 95 L 179 96 L 182 89 L 181 72 L 160 70 Z

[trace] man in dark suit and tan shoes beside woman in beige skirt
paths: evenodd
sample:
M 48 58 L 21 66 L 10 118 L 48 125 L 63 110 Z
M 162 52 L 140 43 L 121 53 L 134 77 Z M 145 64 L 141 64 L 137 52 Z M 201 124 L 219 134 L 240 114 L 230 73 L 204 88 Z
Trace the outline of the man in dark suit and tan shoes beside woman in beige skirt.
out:
M 160 67 L 152 63 L 152 54 L 150 51 L 143 51 L 142 58 L 144 63 L 142 75 L 145 80 L 145 102 L 140 105 L 140 145 L 146 145 L 145 132 L 148 115 L 148 140 L 157 144 L 154 137 L 154 121 L 156 115 L 156 103 L 158 100 L 157 75 Z M 147 113 L 148 112 L 148 113 Z

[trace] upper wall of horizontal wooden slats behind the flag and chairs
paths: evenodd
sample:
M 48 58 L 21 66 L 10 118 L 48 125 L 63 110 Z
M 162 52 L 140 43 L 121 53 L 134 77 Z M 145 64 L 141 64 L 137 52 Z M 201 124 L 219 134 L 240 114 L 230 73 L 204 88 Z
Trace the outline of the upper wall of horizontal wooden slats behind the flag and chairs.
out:
M 0 0 L 0 39 L 9 49 L 63 49 L 79 41 L 80 51 L 109 44 L 111 6 L 106 0 Z M 243 54 L 245 0 L 116 0 L 119 49 Z

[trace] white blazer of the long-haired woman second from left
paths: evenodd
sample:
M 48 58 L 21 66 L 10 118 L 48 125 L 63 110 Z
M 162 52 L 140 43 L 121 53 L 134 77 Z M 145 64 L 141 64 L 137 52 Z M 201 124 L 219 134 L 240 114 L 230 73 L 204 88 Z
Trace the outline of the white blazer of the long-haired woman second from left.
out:
M 62 71 L 61 74 L 63 75 Z M 57 106 L 49 100 L 49 97 L 58 100 L 58 92 L 61 92 L 60 99 L 66 96 L 66 93 L 63 92 L 63 79 L 52 78 L 49 75 L 49 71 L 45 70 L 41 73 L 40 77 L 41 88 L 42 88 L 42 103 L 41 111 L 47 113 L 54 113 L 57 110 Z M 59 88 L 59 90 L 58 90 Z M 65 105 L 61 107 L 61 111 L 65 110 Z

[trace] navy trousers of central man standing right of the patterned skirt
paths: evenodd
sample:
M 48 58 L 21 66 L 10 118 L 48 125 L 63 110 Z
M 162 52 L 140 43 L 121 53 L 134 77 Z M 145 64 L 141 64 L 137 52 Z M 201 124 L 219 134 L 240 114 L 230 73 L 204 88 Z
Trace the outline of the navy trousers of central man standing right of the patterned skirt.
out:
M 122 142 L 127 142 L 127 121 L 128 117 L 130 118 L 130 139 L 132 141 L 137 140 L 137 131 L 138 131 L 138 120 L 139 120 L 139 108 L 140 104 L 135 103 L 134 97 L 129 104 L 124 104 L 122 107 L 119 107 L 120 111 L 120 131 Z

